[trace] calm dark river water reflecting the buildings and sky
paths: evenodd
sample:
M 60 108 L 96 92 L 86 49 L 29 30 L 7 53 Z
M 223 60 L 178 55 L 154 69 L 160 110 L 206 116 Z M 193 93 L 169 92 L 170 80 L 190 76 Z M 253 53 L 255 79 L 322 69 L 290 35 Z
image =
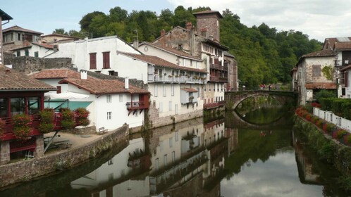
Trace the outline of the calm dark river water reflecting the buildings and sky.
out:
M 293 131 L 259 108 L 150 130 L 123 148 L 0 196 L 351 196 Z M 4 180 L 1 180 L 4 181 Z

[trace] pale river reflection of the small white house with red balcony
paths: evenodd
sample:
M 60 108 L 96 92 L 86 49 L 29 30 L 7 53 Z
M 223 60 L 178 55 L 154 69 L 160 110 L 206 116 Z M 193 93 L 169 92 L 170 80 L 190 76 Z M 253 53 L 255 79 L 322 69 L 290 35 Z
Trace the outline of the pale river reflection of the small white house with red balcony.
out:
M 85 188 L 94 196 L 148 196 L 149 178 L 133 179 L 137 172 L 142 172 L 142 168 L 148 168 L 149 162 L 144 153 L 144 139 L 133 139 L 109 162 L 70 185 L 73 189 Z

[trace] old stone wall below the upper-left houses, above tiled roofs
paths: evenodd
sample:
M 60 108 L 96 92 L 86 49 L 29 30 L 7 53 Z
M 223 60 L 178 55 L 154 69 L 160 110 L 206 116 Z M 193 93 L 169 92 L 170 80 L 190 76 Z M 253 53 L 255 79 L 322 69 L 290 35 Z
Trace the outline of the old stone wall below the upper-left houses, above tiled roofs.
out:
M 13 70 L 18 70 L 25 74 L 44 69 L 73 67 L 70 58 L 35 58 L 30 56 L 5 58 L 4 65 L 12 65 Z

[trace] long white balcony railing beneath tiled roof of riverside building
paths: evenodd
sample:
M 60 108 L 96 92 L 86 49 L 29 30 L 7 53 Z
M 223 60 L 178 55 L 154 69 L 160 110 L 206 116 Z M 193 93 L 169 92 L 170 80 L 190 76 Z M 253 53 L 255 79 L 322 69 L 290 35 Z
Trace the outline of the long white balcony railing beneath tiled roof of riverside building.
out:
M 181 83 L 181 84 L 204 84 L 207 82 L 206 77 L 195 76 L 176 76 L 176 75 L 149 75 L 149 82 L 163 82 L 163 83 Z

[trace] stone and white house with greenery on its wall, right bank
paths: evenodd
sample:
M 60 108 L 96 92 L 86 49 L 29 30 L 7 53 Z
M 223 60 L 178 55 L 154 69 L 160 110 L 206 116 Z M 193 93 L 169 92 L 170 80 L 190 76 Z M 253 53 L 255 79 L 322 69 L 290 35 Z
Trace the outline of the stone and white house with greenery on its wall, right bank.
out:
M 336 91 L 336 56 L 335 51 L 327 49 L 306 54 L 299 59 L 296 77 L 300 105 L 313 101 L 314 94 L 321 89 Z

